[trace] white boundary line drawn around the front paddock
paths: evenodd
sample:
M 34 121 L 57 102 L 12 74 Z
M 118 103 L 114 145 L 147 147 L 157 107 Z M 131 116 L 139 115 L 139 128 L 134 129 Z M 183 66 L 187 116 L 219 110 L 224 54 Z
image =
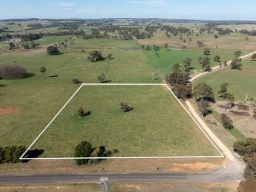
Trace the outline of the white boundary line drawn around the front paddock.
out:
M 205 137 L 207 137 L 207 139 L 209 139 L 209 141 L 213 144 L 215 149 L 217 149 L 217 151 L 219 152 L 220 155 L 216 155 L 216 156 L 171 156 L 171 157 L 53 157 L 53 158 L 23 158 L 23 156 L 27 153 L 27 151 L 29 151 L 29 149 L 35 144 L 35 142 L 39 139 L 39 137 L 41 137 L 41 135 L 43 135 L 43 133 L 51 125 L 51 123 L 53 123 L 53 121 L 56 119 L 56 117 L 59 115 L 59 113 L 61 113 L 61 111 L 63 111 L 63 109 L 67 106 L 69 101 L 71 101 L 71 99 L 73 99 L 73 97 L 75 97 L 75 95 L 80 91 L 80 89 L 84 85 L 165 85 L 165 87 L 167 87 L 167 89 L 171 92 L 173 97 L 175 97 L 175 99 L 179 102 L 181 107 L 183 107 L 183 109 L 185 109 L 185 111 L 189 114 L 189 117 L 191 117 L 193 119 L 193 121 L 195 122 L 197 127 L 199 127 L 199 129 L 203 132 L 203 135 L 205 135 Z M 215 145 L 215 143 L 211 140 L 211 138 L 207 135 L 207 133 L 205 133 L 203 128 L 199 125 L 199 123 L 197 123 L 197 121 L 189 113 L 189 111 L 187 111 L 186 107 L 183 105 L 183 103 L 181 103 L 181 101 L 179 101 L 179 99 L 176 97 L 176 95 L 173 93 L 173 91 L 171 91 L 170 87 L 167 84 L 165 84 L 165 83 L 83 83 L 77 89 L 77 91 L 75 91 L 75 93 L 70 97 L 70 99 L 67 101 L 67 103 L 65 103 L 65 105 L 63 105 L 63 107 L 59 110 L 59 112 L 53 117 L 53 119 L 51 119 L 50 123 L 48 123 L 48 125 L 45 127 L 45 129 L 43 129 L 43 131 L 41 131 L 41 133 L 37 136 L 37 138 L 35 138 L 33 143 L 31 143 L 31 145 L 29 145 L 27 150 L 23 153 L 23 155 L 21 155 L 21 157 L 19 159 L 21 159 L 21 160 L 33 160 L 33 159 L 37 159 L 37 160 L 47 160 L 47 159 L 182 159 L 182 158 L 223 158 L 223 157 L 224 157 L 223 153 L 221 153 L 219 148 Z

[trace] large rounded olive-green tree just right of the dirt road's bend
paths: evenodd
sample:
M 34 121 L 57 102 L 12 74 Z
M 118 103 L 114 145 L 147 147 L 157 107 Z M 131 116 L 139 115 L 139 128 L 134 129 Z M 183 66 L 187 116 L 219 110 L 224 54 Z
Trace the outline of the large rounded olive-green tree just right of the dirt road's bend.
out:
M 206 83 L 199 83 L 193 86 L 192 95 L 199 100 L 215 101 L 213 89 Z

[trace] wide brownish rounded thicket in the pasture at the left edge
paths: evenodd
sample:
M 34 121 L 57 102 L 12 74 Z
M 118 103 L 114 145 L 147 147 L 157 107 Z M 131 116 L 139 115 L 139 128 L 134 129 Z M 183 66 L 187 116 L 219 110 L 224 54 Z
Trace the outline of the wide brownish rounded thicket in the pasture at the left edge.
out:
M 20 65 L 0 65 L 0 79 L 21 79 L 26 73 Z

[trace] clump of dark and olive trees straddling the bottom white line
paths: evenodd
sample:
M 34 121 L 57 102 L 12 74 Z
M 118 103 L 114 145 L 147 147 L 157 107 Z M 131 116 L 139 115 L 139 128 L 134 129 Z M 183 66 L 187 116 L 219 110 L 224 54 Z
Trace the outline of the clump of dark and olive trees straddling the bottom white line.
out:
M 109 151 L 104 146 L 93 148 L 91 143 L 83 141 L 75 147 L 75 157 L 96 157 L 99 159 L 75 159 L 75 164 L 85 165 L 87 163 L 97 163 L 103 160 L 101 158 L 110 157 L 114 152 L 117 153 L 117 150 Z

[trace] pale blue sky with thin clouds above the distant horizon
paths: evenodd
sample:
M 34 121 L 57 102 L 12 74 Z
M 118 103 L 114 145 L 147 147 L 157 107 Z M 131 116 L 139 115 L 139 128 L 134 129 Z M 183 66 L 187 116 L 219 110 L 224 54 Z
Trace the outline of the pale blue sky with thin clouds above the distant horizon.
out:
M 0 19 L 167 18 L 256 21 L 255 0 L 1 0 Z

